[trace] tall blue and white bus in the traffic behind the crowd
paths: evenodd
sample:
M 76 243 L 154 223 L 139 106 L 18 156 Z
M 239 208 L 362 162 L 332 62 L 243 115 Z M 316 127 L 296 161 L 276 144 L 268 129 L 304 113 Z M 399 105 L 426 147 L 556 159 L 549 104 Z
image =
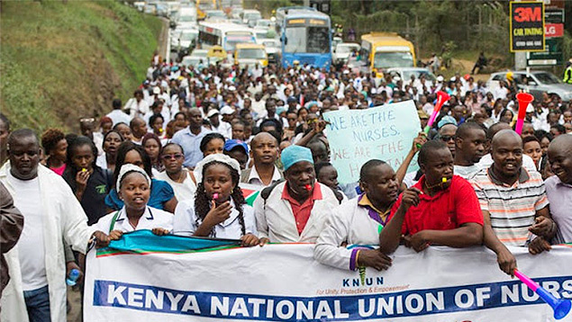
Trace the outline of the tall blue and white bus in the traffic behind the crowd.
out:
M 277 9 L 277 31 L 282 46 L 282 66 L 300 65 L 330 70 L 330 16 L 309 7 Z

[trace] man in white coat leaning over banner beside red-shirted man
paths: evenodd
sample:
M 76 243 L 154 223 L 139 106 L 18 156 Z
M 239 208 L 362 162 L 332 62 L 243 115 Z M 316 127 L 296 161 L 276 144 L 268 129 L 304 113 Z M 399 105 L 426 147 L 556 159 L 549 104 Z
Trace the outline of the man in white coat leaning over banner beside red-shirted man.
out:
M 361 167 L 359 187 L 363 194 L 333 210 L 313 255 L 318 262 L 343 270 L 369 266 L 381 271 L 391 265 L 391 258 L 371 248 L 379 245 L 379 232 L 397 199 L 399 183 L 391 166 L 373 159 Z

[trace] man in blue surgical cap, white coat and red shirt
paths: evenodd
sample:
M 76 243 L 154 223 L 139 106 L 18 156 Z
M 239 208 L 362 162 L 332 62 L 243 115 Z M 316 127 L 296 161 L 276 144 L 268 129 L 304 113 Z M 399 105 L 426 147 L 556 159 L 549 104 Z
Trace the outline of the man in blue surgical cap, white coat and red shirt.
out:
M 259 238 L 273 243 L 315 243 L 338 199 L 327 185 L 315 181 L 309 148 L 285 148 L 282 164 L 286 182 L 262 190 L 254 201 Z

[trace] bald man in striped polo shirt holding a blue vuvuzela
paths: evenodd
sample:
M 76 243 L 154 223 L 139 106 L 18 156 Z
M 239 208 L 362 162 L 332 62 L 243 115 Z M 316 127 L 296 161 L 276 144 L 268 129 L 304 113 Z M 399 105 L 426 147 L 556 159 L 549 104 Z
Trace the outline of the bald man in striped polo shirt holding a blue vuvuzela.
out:
M 506 246 L 528 246 L 532 255 L 549 250 L 556 225 L 542 178 L 522 167 L 522 139 L 501 130 L 492 141 L 493 165 L 472 180 L 485 219 L 485 245 L 497 255 L 504 273 L 513 275 L 516 260 Z

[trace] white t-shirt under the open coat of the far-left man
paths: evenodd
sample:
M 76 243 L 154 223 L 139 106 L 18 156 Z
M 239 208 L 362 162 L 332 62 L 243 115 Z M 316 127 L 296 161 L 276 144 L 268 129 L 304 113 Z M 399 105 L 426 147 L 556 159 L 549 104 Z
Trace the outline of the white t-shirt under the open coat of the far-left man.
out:
M 24 225 L 18 240 L 18 255 L 22 272 L 23 291 L 41 289 L 48 285 L 46 276 L 46 252 L 44 248 L 43 216 L 41 207 L 40 181 L 20 180 L 8 174 L 14 187 L 14 206 L 22 212 Z

